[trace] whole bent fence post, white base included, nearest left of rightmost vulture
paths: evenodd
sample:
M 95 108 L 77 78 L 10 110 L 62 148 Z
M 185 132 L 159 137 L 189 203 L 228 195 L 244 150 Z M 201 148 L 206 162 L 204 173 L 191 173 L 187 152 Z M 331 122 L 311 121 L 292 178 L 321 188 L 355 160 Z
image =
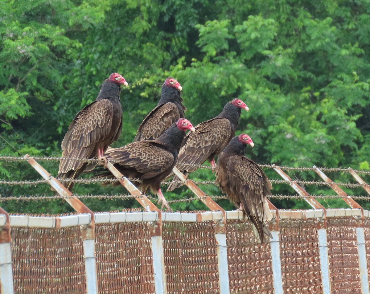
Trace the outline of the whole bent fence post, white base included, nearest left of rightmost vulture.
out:
M 189 180 L 182 172 L 177 168 L 173 168 L 173 172 L 185 185 L 188 186 L 192 192 L 200 197 L 201 201 L 212 211 L 221 211 L 222 219 L 215 222 L 215 235 L 216 235 L 216 249 L 217 249 L 217 262 L 218 262 L 218 278 L 220 294 L 229 294 L 229 269 L 228 269 L 228 256 L 226 246 L 226 214 L 225 210 L 222 209 L 211 197 L 207 196 L 198 186 L 196 186 L 191 180 Z

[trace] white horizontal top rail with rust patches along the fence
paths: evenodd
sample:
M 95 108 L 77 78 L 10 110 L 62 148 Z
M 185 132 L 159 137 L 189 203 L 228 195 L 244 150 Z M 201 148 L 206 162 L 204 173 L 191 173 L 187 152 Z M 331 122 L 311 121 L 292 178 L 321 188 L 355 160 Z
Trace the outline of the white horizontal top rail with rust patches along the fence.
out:
M 271 210 L 273 218 L 275 210 Z M 245 219 L 243 213 L 237 210 L 226 211 L 227 220 Z M 360 209 L 340 208 L 327 209 L 326 217 L 360 217 Z M 156 212 L 102 212 L 94 213 L 95 224 L 128 223 L 128 222 L 156 222 Z M 321 209 L 307 210 L 279 210 L 280 219 L 320 219 L 323 217 Z M 370 218 L 369 210 L 364 210 L 364 217 Z M 221 220 L 220 211 L 213 212 L 162 212 L 162 222 L 207 222 Z M 34 228 L 63 228 L 87 225 L 90 223 L 90 214 L 74 214 L 70 216 L 48 217 L 48 216 L 17 216 L 10 215 L 11 227 L 34 227 Z M 6 223 L 6 217 L 0 214 L 0 227 Z

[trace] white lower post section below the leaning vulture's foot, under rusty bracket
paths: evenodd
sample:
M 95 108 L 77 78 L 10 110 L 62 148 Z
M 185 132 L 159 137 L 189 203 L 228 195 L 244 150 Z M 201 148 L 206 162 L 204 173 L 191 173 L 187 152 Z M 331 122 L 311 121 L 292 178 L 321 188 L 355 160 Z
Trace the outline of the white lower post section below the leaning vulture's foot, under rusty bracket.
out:
M 152 236 L 152 254 L 154 268 L 155 294 L 166 294 L 166 272 L 164 268 L 164 255 L 162 236 Z

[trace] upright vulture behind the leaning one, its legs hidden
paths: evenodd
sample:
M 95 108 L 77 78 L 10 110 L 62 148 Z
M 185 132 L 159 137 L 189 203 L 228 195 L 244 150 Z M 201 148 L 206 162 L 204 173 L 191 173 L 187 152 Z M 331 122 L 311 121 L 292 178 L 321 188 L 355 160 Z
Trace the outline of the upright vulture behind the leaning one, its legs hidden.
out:
M 178 81 L 174 78 L 166 78 L 161 89 L 161 99 L 142 121 L 134 142 L 157 139 L 170 125 L 184 117 L 186 108 L 181 103 L 181 90 L 182 87 Z

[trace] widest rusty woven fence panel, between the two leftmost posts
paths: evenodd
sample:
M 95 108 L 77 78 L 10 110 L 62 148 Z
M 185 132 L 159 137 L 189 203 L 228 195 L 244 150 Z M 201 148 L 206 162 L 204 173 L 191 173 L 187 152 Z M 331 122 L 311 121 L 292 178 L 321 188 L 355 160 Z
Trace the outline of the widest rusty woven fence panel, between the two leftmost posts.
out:
M 11 228 L 14 293 L 86 293 L 79 227 Z

